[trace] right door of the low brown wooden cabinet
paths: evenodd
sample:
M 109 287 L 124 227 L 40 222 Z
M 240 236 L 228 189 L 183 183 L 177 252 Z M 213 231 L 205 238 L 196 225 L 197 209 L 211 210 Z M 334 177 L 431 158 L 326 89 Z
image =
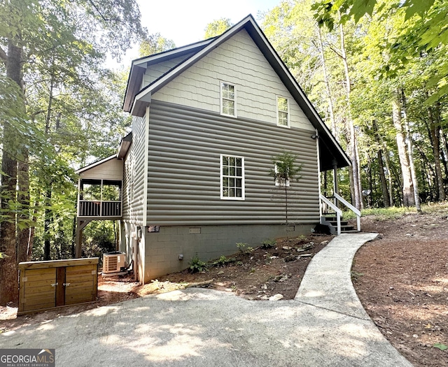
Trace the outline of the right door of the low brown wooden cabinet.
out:
M 66 305 L 96 301 L 97 265 L 67 266 L 65 285 Z

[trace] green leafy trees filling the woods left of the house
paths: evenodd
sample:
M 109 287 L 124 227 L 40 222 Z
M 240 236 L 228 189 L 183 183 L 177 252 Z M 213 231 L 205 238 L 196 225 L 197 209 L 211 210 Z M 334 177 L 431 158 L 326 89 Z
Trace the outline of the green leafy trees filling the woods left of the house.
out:
M 120 57 L 144 34 L 134 0 L 0 3 L 0 304 L 17 300 L 16 264 L 35 233 L 47 229 L 45 257 L 70 242 L 71 167 L 113 152 L 129 125 L 117 112 L 125 78 L 103 69 L 106 52 Z

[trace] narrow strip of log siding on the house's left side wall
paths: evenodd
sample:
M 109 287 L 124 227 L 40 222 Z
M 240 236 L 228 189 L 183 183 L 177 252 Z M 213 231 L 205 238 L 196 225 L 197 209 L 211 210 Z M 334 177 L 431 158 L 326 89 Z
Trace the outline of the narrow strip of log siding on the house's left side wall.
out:
M 123 220 L 143 225 L 144 154 L 146 117 L 132 117 L 132 145 L 125 157 L 123 182 Z M 132 180 L 134 184 L 132 185 Z M 132 192 L 133 191 L 133 192 Z

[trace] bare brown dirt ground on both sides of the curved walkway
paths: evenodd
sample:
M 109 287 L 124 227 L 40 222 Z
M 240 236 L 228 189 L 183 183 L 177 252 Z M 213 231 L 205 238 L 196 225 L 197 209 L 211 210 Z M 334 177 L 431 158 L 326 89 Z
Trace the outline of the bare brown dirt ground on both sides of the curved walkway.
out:
M 367 216 L 363 231 L 380 233 L 353 263 L 356 292 L 379 330 L 414 366 L 448 367 L 448 205 L 400 218 Z M 60 315 L 186 287 L 213 287 L 253 301 L 294 298 L 311 258 L 332 236 L 279 240 L 221 259 L 197 273 L 165 275 L 141 286 L 130 276 L 99 277 L 98 301 L 16 317 L 0 308 L 0 333 Z

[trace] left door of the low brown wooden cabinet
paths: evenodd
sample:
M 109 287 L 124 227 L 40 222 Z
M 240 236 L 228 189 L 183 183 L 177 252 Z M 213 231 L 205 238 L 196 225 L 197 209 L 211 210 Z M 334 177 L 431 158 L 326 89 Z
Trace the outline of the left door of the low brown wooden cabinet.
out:
M 22 297 L 20 311 L 41 310 L 55 307 L 56 304 L 56 269 L 27 269 L 21 275 Z

